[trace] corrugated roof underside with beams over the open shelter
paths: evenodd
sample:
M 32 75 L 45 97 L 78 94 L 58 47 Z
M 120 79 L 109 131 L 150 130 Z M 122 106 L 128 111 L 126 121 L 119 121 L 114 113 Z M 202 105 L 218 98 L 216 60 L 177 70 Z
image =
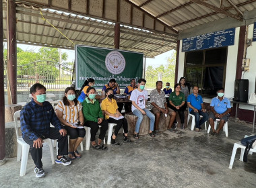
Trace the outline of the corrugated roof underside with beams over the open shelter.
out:
M 16 4 L 19 43 L 73 48 L 58 29 L 74 44 L 114 48 L 118 22 L 120 49 L 156 56 L 175 49 L 182 30 L 225 17 L 243 21 L 243 13 L 255 9 L 256 0 L 18 0 Z M 5 7 L 6 3 L 6 39 Z

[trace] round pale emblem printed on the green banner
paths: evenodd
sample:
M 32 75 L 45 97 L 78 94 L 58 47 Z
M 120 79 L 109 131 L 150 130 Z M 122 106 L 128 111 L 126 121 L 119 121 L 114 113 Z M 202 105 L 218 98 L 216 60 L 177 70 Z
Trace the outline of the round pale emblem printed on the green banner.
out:
M 119 75 L 125 70 L 125 58 L 118 51 L 109 52 L 105 58 L 106 69 L 114 75 Z

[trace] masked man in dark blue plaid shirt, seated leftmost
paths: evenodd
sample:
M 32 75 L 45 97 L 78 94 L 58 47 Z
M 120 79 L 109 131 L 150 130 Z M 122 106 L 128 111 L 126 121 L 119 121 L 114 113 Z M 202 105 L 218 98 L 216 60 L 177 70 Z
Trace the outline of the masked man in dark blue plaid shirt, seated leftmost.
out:
M 51 138 L 58 141 L 58 155 L 55 162 L 57 164 L 69 165 L 64 155 L 67 155 L 67 131 L 59 122 L 55 115 L 53 106 L 46 99 L 46 88 L 40 83 L 32 85 L 30 88 L 32 100 L 20 111 L 20 126 L 24 141 L 30 145 L 30 152 L 34 164 L 36 177 L 44 177 L 42 169 L 42 142 L 43 139 Z M 50 128 L 50 123 L 55 128 Z

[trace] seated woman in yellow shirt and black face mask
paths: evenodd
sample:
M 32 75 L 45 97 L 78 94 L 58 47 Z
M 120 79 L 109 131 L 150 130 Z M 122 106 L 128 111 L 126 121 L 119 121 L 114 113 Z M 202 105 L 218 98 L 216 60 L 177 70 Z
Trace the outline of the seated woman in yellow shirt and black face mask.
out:
M 106 89 L 106 98 L 101 103 L 101 109 L 105 113 L 105 118 L 108 120 L 109 123 L 117 124 L 114 134 L 111 137 L 111 144 L 120 146 L 121 144 L 116 141 L 117 134 L 123 125 L 124 130 L 124 141 L 125 142 L 131 142 L 131 140 L 128 139 L 128 123 L 127 120 L 123 117 L 123 115 L 118 111 L 117 101 L 113 99 L 113 89 L 108 88 Z

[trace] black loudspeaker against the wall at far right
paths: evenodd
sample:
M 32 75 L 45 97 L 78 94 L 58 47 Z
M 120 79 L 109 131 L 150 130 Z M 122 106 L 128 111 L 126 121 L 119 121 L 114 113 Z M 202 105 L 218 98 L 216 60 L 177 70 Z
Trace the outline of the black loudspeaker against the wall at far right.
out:
M 234 101 L 247 103 L 249 80 L 238 79 L 234 81 Z

